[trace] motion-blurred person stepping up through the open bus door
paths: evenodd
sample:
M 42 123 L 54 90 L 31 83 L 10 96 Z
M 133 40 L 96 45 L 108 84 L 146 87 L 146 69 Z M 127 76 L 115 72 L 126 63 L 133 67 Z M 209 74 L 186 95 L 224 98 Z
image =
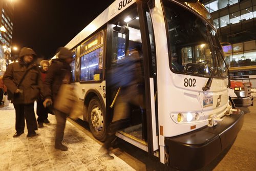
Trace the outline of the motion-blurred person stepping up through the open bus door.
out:
M 119 65 L 122 66 L 121 63 L 125 63 L 124 66 L 129 71 L 125 71 L 125 69 L 121 67 L 120 72 L 116 76 L 119 79 L 119 83 L 115 83 L 115 85 L 112 85 L 112 87 L 119 87 L 120 92 L 116 96 L 117 99 L 114 103 L 114 113 L 112 122 L 107 129 L 107 138 L 102 148 L 100 149 L 100 151 L 104 153 L 103 156 L 110 160 L 114 159 L 113 156 L 110 156 L 110 148 L 115 141 L 115 133 L 118 130 L 124 129 L 125 127 L 129 126 L 131 118 L 130 105 L 133 104 L 139 106 L 141 112 L 143 112 L 145 109 L 143 95 L 144 80 L 141 66 L 141 46 L 136 46 L 129 53 L 131 54 L 131 56 L 125 57 L 124 59 L 121 59 L 119 61 Z M 127 77 L 131 77 L 131 80 L 129 82 L 127 82 L 126 80 Z

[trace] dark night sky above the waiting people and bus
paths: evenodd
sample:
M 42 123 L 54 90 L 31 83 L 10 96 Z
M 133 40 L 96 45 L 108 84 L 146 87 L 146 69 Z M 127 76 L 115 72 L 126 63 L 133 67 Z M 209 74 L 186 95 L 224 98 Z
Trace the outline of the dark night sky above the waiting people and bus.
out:
M 49 59 L 113 2 L 16 0 L 12 46 L 32 48 L 38 57 Z

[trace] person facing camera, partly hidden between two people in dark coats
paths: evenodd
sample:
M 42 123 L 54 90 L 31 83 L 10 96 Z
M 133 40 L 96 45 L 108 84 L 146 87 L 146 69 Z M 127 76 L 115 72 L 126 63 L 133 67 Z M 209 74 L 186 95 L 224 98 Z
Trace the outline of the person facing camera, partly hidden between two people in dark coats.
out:
M 41 71 L 41 79 L 42 82 L 45 82 L 45 78 L 46 78 L 46 74 L 49 68 L 49 61 L 48 60 L 42 60 L 40 62 L 40 71 Z M 38 127 L 44 127 L 44 123 L 50 123 L 50 121 L 48 120 L 48 113 L 49 113 L 49 109 L 45 108 L 43 102 L 44 102 L 44 98 L 42 97 L 42 94 L 40 95 L 40 97 L 36 100 L 36 114 L 38 116 L 37 118 L 37 122 L 38 122 Z

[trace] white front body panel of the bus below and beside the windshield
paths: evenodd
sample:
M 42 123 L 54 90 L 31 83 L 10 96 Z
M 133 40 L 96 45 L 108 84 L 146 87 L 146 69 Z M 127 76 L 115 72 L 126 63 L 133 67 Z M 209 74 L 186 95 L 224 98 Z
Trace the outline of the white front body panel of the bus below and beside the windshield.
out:
M 165 21 L 161 3 L 155 1 L 155 8 L 151 10 L 152 22 L 155 32 L 156 54 L 157 54 L 157 82 L 158 82 L 158 108 L 159 126 L 163 127 L 163 133 L 160 136 L 160 145 L 164 145 L 163 137 L 172 137 L 189 131 L 194 131 L 208 124 L 209 115 L 218 114 L 227 107 L 228 92 L 227 79 L 214 79 L 211 89 L 202 91 L 208 78 L 190 76 L 184 74 L 175 74 L 170 71 L 167 38 L 165 30 Z M 184 79 L 196 79 L 195 87 L 185 87 Z M 205 94 L 212 94 L 213 104 L 203 108 L 203 98 Z M 221 95 L 220 104 L 216 107 L 219 95 Z M 172 113 L 191 112 L 199 113 L 200 117 L 204 117 L 203 121 L 197 123 L 175 123 L 170 115 Z M 196 125 L 195 129 L 190 126 Z M 166 128 L 166 129 L 165 129 Z M 160 130 L 160 129 L 159 129 Z

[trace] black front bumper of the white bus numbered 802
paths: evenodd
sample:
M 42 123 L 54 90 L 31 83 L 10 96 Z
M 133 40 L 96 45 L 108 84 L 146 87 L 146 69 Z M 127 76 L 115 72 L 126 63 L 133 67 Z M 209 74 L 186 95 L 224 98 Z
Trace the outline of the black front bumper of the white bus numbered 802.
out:
M 236 139 L 244 122 L 244 112 L 225 116 L 216 126 L 175 137 L 166 137 L 169 165 L 182 170 L 199 169 L 218 157 Z

